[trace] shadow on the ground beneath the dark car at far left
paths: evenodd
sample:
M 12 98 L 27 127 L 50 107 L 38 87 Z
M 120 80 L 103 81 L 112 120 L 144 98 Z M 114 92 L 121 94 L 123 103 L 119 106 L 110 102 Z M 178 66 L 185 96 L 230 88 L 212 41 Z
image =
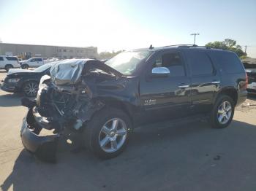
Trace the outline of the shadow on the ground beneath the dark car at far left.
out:
M 0 106 L 9 107 L 9 106 L 20 106 L 20 99 L 22 98 L 20 93 L 8 93 L 0 95 Z

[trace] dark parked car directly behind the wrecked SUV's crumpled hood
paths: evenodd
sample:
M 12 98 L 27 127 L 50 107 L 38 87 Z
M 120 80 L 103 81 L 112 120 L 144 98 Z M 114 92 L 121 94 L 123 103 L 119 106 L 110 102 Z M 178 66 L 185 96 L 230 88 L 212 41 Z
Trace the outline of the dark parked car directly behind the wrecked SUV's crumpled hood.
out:
M 1 89 L 11 93 L 23 93 L 28 97 L 37 95 L 38 85 L 41 77 L 50 74 L 50 66 L 47 63 L 34 70 L 10 69 Z

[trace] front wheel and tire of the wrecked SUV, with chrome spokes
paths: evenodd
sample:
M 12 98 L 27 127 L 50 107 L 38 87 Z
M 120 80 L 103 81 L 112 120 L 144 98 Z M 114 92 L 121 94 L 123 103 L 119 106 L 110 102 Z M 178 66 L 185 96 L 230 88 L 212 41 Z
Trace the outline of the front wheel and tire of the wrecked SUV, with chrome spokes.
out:
M 116 157 L 127 147 L 131 128 L 127 114 L 119 109 L 104 108 L 86 125 L 83 131 L 85 146 L 99 158 Z

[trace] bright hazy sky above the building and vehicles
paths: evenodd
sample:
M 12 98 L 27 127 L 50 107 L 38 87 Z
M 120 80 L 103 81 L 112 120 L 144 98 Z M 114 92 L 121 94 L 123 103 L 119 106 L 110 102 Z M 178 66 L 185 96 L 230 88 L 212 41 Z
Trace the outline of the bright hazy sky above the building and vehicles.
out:
M 256 58 L 256 1 L 0 0 L 6 43 L 98 47 L 98 52 L 235 39 Z

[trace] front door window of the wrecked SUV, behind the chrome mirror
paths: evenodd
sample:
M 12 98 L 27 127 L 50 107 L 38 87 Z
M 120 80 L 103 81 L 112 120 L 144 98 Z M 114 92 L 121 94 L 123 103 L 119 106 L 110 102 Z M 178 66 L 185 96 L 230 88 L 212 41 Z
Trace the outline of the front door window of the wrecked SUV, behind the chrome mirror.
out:
M 181 56 L 177 52 L 159 55 L 154 62 L 154 67 L 166 67 L 170 70 L 171 77 L 185 76 L 184 65 Z

